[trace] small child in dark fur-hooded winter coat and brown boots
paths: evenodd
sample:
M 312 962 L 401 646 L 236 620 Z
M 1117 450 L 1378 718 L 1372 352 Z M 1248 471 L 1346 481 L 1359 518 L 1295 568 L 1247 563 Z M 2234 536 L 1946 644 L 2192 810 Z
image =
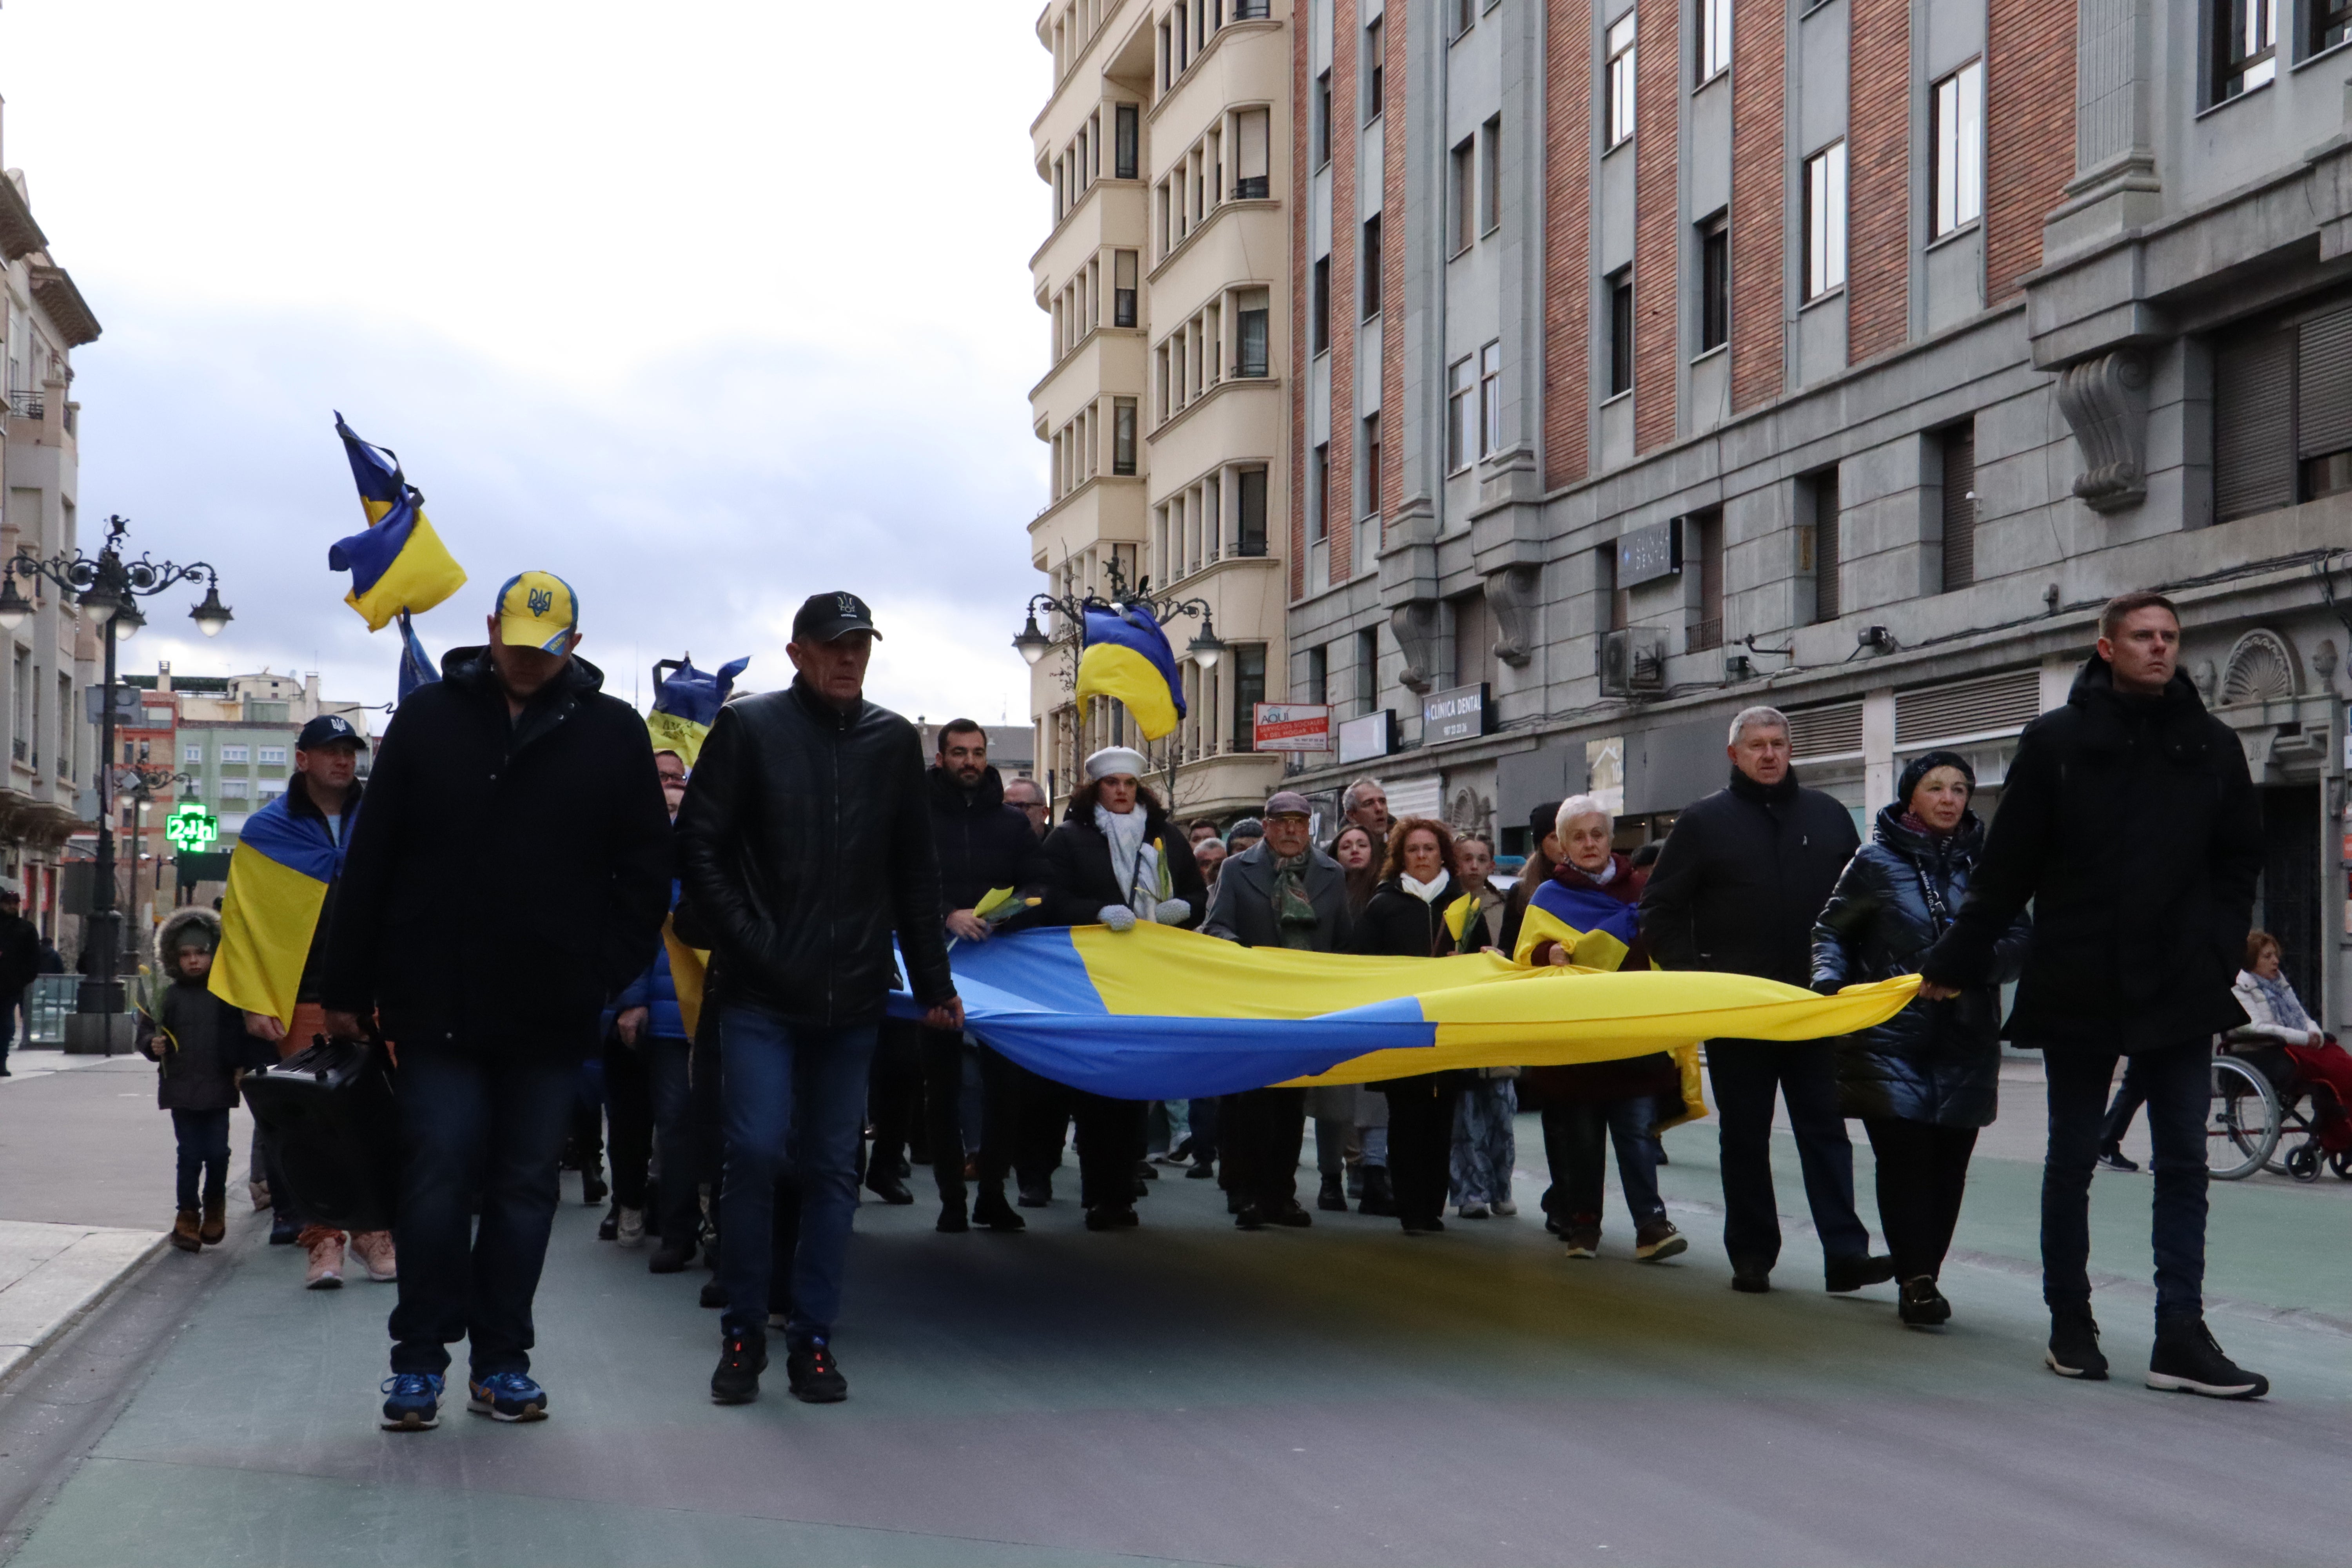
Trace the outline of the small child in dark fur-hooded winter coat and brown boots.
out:
M 238 1103 L 238 1077 L 275 1058 L 266 1046 L 256 1053 L 256 1041 L 245 1032 L 245 1013 L 205 990 L 219 945 L 221 917 L 212 910 L 172 914 L 155 940 L 158 999 L 139 1013 L 139 1056 L 160 1067 L 155 1103 L 172 1112 L 172 1133 L 179 1138 L 172 1246 L 183 1253 L 228 1234 L 228 1112 Z

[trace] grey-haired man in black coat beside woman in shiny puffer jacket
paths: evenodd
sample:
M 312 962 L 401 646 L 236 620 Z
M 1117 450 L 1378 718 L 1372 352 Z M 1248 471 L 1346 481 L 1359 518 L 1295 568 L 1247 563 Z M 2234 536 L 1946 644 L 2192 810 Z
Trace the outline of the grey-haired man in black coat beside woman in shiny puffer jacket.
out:
M 1790 769 L 1788 717 L 1745 708 L 1731 719 L 1731 788 L 1675 818 L 1642 891 L 1642 936 L 1665 969 L 1708 969 L 1806 985 L 1813 917 L 1860 837 L 1837 799 Z M 1788 1098 L 1804 1199 L 1820 1232 L 1830 1291 L 1893 1279 L 1853 1213 L 1853 1143 L 1837 1114 L 1837 1048 L 1828 1039 L 1708 1041 L 1722 1119 L 1724 1251 L 1733 1291 L 1769 1291 L 1780 1260 L 1771 1182 L 1773 1095 Z

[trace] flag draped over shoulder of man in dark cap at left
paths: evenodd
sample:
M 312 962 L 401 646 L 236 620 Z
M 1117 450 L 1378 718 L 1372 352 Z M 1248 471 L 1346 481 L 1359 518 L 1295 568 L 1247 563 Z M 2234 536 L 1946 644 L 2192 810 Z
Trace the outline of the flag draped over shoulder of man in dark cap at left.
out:
M 358 825 L 358 811 L 350 825 Z M 350 825 L 343 835 L 350 837 Z M 221 952 L 212 959 L 209 990 L 247 1013 L 294 1025 L 294 992 L 310 957 L 327 886 L 343 872 L 343 846 L 318 823 L 287 811 L 287 797 L 245 818 L 228 858 L 221 900 Z

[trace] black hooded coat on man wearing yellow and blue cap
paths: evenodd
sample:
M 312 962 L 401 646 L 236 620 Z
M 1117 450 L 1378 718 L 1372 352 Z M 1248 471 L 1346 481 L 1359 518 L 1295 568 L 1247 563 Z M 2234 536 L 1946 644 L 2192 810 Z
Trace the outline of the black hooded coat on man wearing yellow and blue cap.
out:
M 508 717 L 487 649 L 400 703 L 336 884 L 320 1001 L 400 1046 L 581 1056 L 670 907 L 644 719 L 572 658 Z

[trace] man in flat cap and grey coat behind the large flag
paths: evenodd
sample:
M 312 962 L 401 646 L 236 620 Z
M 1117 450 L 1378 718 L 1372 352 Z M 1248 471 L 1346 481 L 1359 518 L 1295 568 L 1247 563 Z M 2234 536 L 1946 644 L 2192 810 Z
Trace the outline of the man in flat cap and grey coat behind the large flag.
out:
M 1265 802 L 1265 837 L 1225 860 L 1200 929 L 1244 947 L 1348 950 L 1348 872 L 1315 849 L 1305 795 Z M 1216 1107 L 1235 1227 L 1312 1225 L 1298 1204 L 1305 1088 L 1251 1088 Z

